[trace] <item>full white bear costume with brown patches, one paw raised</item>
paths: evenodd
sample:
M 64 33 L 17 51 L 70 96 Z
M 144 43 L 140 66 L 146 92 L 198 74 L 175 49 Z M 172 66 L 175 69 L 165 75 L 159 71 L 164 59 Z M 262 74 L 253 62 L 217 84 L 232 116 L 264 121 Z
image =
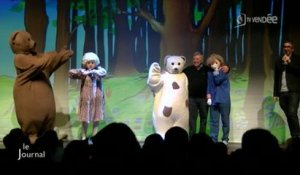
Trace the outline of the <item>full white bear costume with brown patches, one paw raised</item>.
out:
M 179 126 L 189 131 L 188 79 L 182 72 L 184 56 L 166 56 L 166 71 L 161 72 L 158 63 L 151 64 L 148 81 L 154 93 L 153 124 L 156 133 L 163 138 L 168 129 Z

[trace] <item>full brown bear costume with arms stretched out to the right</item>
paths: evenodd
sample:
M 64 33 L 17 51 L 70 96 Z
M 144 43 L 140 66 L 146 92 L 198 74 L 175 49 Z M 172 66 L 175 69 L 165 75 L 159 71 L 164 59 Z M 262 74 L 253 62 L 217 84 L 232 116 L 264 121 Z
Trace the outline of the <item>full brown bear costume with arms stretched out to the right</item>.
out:
M 56 109 L 49 78 L 73 51 L 36 53 L 36 43 L 26 31 L 12 33 L 9 44 L 17 72 L 13 90 L 16 116 L 22 131 L 35 143 L 45 131 L 54 129 Z

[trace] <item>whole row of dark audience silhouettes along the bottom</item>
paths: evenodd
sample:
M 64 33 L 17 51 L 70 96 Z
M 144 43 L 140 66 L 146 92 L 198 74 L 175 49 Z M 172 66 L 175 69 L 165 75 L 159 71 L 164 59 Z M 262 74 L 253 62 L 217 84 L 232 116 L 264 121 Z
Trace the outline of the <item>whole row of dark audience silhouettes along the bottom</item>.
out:
M 299 137 L 288 139 L 281 147 L 276 137 L 262 128 L 247 130 L 241 148 L 232 152 L 222 142 L 213 142 L 206 133 L 189 137 L 177 126 L 170 128 L 164 139 L 156 133 L 148 135 L 141 145 L 128 125 L 117 122 L 108 124 L 90 139 L 72 140 L 65 147 L 53 130 L 30 144 L 21 129 L 12 129 L 3 143 L 0 163 L 7 169 L 8 165 L 15 165 L 16 168 L 9 168 L 11 172 L 29 172 L 38 165 L 48 172 L 62 169 L 61 172 L 75 174 L 96 169 L 109 174 L 283 174 L 296 171 L 295 160 L 300 157 Z

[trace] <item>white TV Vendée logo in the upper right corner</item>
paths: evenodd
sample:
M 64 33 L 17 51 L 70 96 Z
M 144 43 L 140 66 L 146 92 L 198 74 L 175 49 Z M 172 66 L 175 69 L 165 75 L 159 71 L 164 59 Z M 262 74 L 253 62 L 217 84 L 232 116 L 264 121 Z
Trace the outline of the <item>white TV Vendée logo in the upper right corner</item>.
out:
M 253 17 L 247 17 L 245 13 L 241 13 L 237 20 L 237 27 L 245 26 L 247 23 L 261 23 L 261 24 L 277 24 L 278 17 L 272 16 L 271 14 L 268 14 L 267 16 L 253 16 Z

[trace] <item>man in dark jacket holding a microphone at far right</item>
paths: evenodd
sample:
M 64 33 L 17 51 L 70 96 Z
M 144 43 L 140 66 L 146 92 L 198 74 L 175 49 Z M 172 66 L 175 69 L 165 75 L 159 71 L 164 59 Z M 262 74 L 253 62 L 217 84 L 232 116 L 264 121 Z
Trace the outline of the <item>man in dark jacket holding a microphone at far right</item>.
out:
M 283 42 L 283 56 L 275 62 L 273 97 L 286 115 L 292 137 L 300 137 L 298 108 L 300 101 L 300 56 L 293 54 L 291 41 Z

